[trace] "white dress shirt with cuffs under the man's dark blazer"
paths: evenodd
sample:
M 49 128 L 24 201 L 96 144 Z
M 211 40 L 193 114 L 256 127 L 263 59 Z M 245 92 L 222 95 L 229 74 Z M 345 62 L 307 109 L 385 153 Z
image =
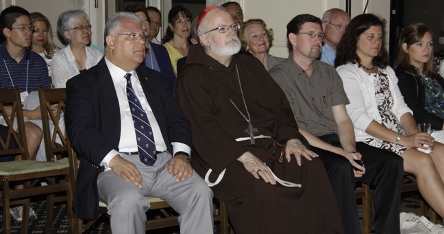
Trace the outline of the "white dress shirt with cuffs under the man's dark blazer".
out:
M 119 108 L 121 111 L 121 137 L 119 142 L 119 151 L 120 152 L 137 152 L 137 141 L 136 141 L 136 131 L 134 130 L 134 124 L 132 120 L 132 115 L 130 111 L 130 104 L 128 104 L 128 99 L 126 95 L 126 82 L 125 79 L 126 71 L 123 71 L 123 69 L 117 67 L 116 65 L 113 65 L 108 59 L 105 58 L 106 65 L 108 66 L 108 69 L 110 70 L 112 82 L 114 83 L 114 88 L 116 90 L 117 99 L 119 100 Z M 149 124 L 151 124 L 151 128 L 153 130 L 153 136 L 154 141 L 156 142 L 156 150 L 163 152 L 167 150 L 167 145 L 164 142 L 164 139 L 162 137 L 162 132 L 160 131 L 160 127 L 158 125 L 158 122 L 156 120 L 156 117 L 154 117 L 153 110 L 151 110 L 151 107 L 149 106 L 147 99 L 145 97 L 145 93 L 143 93 L 142 86 L 140 85 L 140 81 L 138 78 L 138 75 L 136 71 L 131 71 L 131 82 L 134 89 L 134 92 L 136 93 L 136 96 L 140 100 L 140 104 L 142 105 L 143 110 L 145 110 L 145 113 L 147 113 L 147 117 L 149 120 Z M 177 144 L 180 143 L 173 143 L 173 148 L 175 148 L 173 151 L 184 151 L 184 152 L 190 152 L 190 148 L 187 146 L 188 149 L 180 150 L 177 149 Z M 182 144 L 184 145 L 184 144 Z M 105 166 L 106 169 L 108 168 L 108 165 L 111 161 L 111 159 L 116 156 L 116 154 L 119 154 L 116 150 L 111 150 L 103 159 L 101 162 L 101 165 Z

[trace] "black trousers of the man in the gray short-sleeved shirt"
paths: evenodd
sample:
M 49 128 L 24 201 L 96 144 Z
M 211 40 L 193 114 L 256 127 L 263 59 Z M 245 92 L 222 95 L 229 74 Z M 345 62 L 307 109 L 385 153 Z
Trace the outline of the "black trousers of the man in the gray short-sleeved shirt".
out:
M 319 137 L 332 145 L 341 146 L 336 134 Z M 399 203 L 404 175 L 401 156 L 357 142 L 365 174 L 357 180 L 370 185 L 375 203 L 375 233 L 399 233 Z M 345 233 L 362 233 L 354 196 L 355 178 L 351 163 L 344 156 L 312 147 L 319 154 L 333 187 Z

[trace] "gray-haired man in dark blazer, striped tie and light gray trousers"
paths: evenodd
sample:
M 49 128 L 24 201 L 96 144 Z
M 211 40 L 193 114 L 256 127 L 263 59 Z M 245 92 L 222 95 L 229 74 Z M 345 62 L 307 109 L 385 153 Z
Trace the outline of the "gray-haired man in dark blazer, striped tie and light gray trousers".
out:
M 190 123 L 164 76 L 142 64 L 140 18 L 112 15 L 104 37 L 105 57 L 66 83 L 66 128 L 83 157 L 75 213 L 93 219 L 101 200 L 113 233 L 145 233 L 145 196 L 155 196 L 180 213 L 181 233 L 212 233 L 212 191 L 190 165 Z

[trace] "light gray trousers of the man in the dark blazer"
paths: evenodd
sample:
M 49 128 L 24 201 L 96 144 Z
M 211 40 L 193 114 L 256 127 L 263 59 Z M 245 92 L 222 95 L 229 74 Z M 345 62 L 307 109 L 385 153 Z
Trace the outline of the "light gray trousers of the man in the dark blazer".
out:
M 143 187 L 139 189 L 132 182 L 126 182 L 112 170 L 99 174 L 99 198 L 108 204 L 112 233 L 145 233 L 145 212 L 150 207 L 145 196 L 162 198 L 180 214 L 180 233 L 213 233 L 213 194 L 196 172 L 177 183 L 176 176 L 167 169 L 171 160 L 169 152 L 158 154 L 158 160 L 151 167 L 141 163 L 138 155 L 122 155 L 139 169 Z

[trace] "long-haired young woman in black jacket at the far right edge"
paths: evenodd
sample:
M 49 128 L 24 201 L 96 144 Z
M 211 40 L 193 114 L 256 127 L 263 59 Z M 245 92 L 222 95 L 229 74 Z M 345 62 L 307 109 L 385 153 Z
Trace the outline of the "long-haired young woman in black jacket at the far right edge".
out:
M 399 36 L 395 64 L 399 89 L 417 123 L 444 128 L 444 80 L 433 71 L 432 30 L 423 23 L 408 25 Z

